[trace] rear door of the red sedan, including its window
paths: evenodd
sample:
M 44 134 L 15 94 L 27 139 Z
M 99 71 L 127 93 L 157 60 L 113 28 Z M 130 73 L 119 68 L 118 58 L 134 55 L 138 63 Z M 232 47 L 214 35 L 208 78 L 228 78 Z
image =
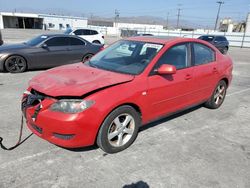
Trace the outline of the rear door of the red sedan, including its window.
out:
M 194 102 L 206 100 L 211 96 L 218 82 L 218 63 L 216 52 L 201 43 L 192 43 L 195 90 Z

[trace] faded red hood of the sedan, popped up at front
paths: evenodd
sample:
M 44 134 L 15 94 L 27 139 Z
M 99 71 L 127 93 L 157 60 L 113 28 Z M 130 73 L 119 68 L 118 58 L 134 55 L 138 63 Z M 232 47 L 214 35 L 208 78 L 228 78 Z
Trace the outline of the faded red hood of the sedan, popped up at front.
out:
M 52 97 L 80 97 L 89 92 L 129 82 L 133 79 L 132 75 L 105 71 L 77 63 L 43 72 L 35 76 L 29 85 Z

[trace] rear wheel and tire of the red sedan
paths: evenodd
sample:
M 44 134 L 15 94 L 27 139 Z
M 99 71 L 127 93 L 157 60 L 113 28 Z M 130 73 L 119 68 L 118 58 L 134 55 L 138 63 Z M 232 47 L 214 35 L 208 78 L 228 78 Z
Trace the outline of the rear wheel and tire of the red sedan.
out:
M 214 89 L 214 92 L 210 97 L 210 99 L 205 103 L 205 106 L 210 109 L 219 108 L 224 102 L 226 93 L 227 93 L 227 84 L 224 80 L 221 80 Z

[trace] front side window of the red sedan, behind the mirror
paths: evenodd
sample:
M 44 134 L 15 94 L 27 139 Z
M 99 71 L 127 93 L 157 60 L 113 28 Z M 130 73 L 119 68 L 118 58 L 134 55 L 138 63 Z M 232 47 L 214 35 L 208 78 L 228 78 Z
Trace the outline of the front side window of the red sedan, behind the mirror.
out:
M 188 45 L 176 45 L 168 49 L 157 62 L 156 68 L 163 64 L 174 65 L 176 69 L 188 67 Z

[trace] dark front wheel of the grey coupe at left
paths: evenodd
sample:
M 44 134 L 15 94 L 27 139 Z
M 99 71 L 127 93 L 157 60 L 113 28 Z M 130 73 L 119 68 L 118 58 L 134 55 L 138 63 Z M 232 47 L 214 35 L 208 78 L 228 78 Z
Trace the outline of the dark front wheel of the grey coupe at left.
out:
M 13 55 L 5 60 L 4 66 L 10 73 L 21 73 L 27 70 L 27 61 L 22 56 Z

